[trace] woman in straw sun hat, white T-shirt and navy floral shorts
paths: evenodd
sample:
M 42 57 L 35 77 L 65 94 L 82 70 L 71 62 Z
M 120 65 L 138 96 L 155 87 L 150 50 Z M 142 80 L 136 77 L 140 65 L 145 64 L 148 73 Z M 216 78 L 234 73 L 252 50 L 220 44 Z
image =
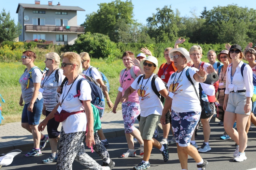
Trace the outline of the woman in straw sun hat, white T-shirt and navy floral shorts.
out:
M 198 168 L 205 168 L 208 164 L 207 160 L 202 159 L 197 149 L 190 145 L 190 139 L 200 119 L 201 107 L 198 88 L 199 82 L 206 80 L 206 72 L 202 67 L 199 67 L 198 70 L 187 66 L 191 59 L 185 48 L 172 49 L 169 56 L 178 70 L 171 75 L 167 83 L 170 94 L 166 98 L 160 121 L 165 126 L 165 113 L 171 108 L 172 129 L 181 168 L 188 169 L 188 155 L 196 161 Z

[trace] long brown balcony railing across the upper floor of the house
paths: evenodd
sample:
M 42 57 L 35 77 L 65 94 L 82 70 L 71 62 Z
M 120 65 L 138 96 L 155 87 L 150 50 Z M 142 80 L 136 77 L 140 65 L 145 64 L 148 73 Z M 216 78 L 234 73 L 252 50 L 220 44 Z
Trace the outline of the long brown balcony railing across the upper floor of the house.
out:
M 84 33 L 84 27 L 25 25 L 25 31 L 77 32 L 77 33 Z

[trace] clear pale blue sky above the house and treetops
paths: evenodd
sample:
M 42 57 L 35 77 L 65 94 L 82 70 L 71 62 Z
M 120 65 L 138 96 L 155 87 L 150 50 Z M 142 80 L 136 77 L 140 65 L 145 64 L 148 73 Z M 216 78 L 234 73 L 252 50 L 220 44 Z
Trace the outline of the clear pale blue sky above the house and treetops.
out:
M 41 0 L 40 4 L 48 4 L 48 1 L 51 0 Z M 92 12 L 97 12 L 99 3 L 109 3 L 112 0 L 52 0 L 53 5 L 57 5 L 58 2 L 60 5 L 65 6 L 79 6 L 85 11 L 77 12 L 77 24 L 80 25 L 85 21 L 86 14 Z M 122 0 L 125 1 L 125 0 Z M 18 14 L 16 10 L 18 3 L 29 3 L 34 4 L 34 0 L 0 0 L 0 11 L 5 8 L 5 11 L 10 11 L 11 18 L 15 19 L 15 22 L 18 22 Z M 146 24 L 147 17 L 152 16 L 152 13 L 156 13 L 156 8 L 163 8 L 165 5 L 171 5 L 172 10 L 178 9 L 181 16 L 192 16 L 191 12 L 200 16 L 200 12 L 203 11 L 203 7 L 206 6 L 207 10 L 211 10 L 214 6 L 226 6 L 228 4 L 237 4 L 241 7 L 248 7 L 256 9 L 256 3 L 253 1 L 242 1 L 242 0 L 132 0 L 133 4 L 133 18 L 138 22 Z

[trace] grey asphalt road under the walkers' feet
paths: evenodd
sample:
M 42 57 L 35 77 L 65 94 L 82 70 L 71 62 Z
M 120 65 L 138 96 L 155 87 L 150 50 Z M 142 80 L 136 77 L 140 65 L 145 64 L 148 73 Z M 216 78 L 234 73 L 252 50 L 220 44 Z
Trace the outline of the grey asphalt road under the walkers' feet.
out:
M 248 142 L 247 149 L 245 150 L 247 160 L 243 162 L 233 162 L 233 152 L 236 149 L 234 146 L 234 141 L 232 140 L 219 140 L 219 137 L 223 134 L 223 126 L 219 126 L 217 123 L 211 124 L 211 137 L 210 137 L 210 146 L 212 148 L 211 151 L 206 153 L 200 153 L 200 155 L 207 159 L 209 162 L 209 166 L 207 170 L 246 170 L 246 169 L 255 169 L 256 170 L 256 154 L 255 154 L 255 146 L 256 146 L 256 127 L 252 126 L 253 131 L 248 133 Z M 162 134 L 158 140 L 161 140 Z M 111 159 L 116 163 L 116 166 L 113 169 L 132 169 L 135 165 L 139 164 L 142 160 L 142 157 L 129 157 L 129 158 L 120 158 L 122 153 L 127 151 L 127 144 L 125 136 L 115 137 L 108 139 L 110 145 L 106 147 L 110 153 Z M 196 136 L 196 141 L 199 146 L 202 145 L 203 135 L 202 130 L 199 131 L 198 136 Z M 139 154 L 139 143 L 135 144 L 137 149 L 137 154 Z M 22 152 L 20 155 L 17 155 L 13 163 L 9 166 L 3 166 L 1 170 L 9 170 L 9 169 L 20 169 L 20 170 L 52 170 L 56 169 L 56 163 L 52 164 L 42 164 L 42 159 L 47 158 L 51 154 L 51 150 L 49 144 L 42 151 L 43 154 L 37 157 L 25 157 L 24 155 L 27 153 Z M 102 164 L 102 160 L 100 160 L 99 156 L 94 152 L 90 153 L 88 149 L 87 152 L 91 157 L 93 157 L 99 164 Z M 161 169 L 181 169 L 179 158 L 177 156 L 177 151 L 175 144 L 169 145 L 169 160 L 168 162 L 163 162 L 163 157 L 161 153 L 159 153 L 158 149 L 153 149 L 150 157 L 150 169 L 152 170 L 161 170 Z M 84 169 L 82 165 L 77 162 L 73 163 L 74 170 Z M 197 170 L 195 161 L 189 157 L 188 159 L 188 169 Z

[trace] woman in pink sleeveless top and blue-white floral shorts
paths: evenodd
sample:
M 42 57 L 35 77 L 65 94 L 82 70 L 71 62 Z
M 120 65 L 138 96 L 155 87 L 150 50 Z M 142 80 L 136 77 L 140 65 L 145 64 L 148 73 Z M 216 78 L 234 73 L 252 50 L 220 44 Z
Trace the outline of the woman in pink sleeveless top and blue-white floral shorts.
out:
M 123 63 L 126 67 L 126 70 L 120 72 L 120 87 L 118 88 L 118 94 L 115 100 L 114 107 L 112 109 L 113 113 L 116 113 L 116 108 L 122 95 L 124 94 L 125 90 L 135 81 L 131 76 L 131 69 L 136 75 L 140 75 L 141 71 L 139 67 L 133 66 L 131 60 L 134 59 L 134 54 L 131 51 L 124 52 L 123 56 Z M 134 141 L 133 137 L 138 140 L 140 143 L 140 155 L 143 156 L 143 147 L 144 143 L 141 138 L 140 131 L 134 126 L 134 122 L 137 117 L 140 115 L 140 102 L 139 96 L 136 91 L 131 93 L 130 99 L 122 102 L 122 114 L 124 120 L 124 128 L 125 128 L 125 137 L 128 144 L 128 151 L 121 155 L 122 158 L 127 158 L 130 156 L 136 156 L 136 151 L 134 150 Z

